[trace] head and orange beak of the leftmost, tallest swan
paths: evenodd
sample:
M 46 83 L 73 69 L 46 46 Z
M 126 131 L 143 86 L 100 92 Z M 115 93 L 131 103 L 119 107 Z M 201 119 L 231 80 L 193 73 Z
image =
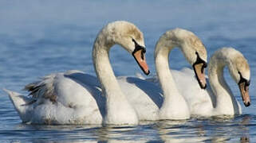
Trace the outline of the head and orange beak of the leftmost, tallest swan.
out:
M 120 44 L 132 54 L 144 74 L 150 73 L 145 57 L 144 36 L 136 25 L 128 21 L 114 21 L 106 25 L 102 32 L 105 33 L 104 35 L 108 35 L 106 37 L 107 44 Z

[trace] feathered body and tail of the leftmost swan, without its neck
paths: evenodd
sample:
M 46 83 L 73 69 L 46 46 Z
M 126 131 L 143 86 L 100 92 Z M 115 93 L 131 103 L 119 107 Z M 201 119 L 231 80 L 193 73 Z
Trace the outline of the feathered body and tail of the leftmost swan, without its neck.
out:
M 32 96 L 30 102 L 18 93 L 9 95 L 22 122 L 100 124 L 105 101 L 96 83 L 96 77 L 93 80 L 92 75 L 83 72 L 57 73 L 26 85 L 25 90 Z

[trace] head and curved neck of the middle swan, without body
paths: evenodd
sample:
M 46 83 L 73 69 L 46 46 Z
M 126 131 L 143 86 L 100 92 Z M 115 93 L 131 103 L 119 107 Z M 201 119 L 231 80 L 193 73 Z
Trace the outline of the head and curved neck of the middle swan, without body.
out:
M 187 101 L 177 88 L 183 85 L 175 84 L 169 68 L 168 56 L 175 47 L 181 49 L 189 64 L 193 66 L 200 87 L 207 86 L 204 74 L 204 68 L 207 67 L 207 50 L 199 38 L 185 29 L 173 29 L 164 33 L 155 48 L 156 75 L 159 77 L 164 96 L 159 113 L 160 119 L 190 118 Z

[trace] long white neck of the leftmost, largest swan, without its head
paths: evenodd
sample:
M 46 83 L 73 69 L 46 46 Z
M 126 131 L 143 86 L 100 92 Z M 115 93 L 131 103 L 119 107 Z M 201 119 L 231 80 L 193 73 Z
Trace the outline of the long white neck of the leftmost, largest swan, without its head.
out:
M 115 43 L 109 40 L 108 37 L 112 37 L 112 35 L 101 32 L 93 46 L 93 65 L 97 78 L 100 80 L 102 93 L 106 97 L 104 124 L 137 124 L 136 111 L 121 91 L 112 71 L 108 52 Z

